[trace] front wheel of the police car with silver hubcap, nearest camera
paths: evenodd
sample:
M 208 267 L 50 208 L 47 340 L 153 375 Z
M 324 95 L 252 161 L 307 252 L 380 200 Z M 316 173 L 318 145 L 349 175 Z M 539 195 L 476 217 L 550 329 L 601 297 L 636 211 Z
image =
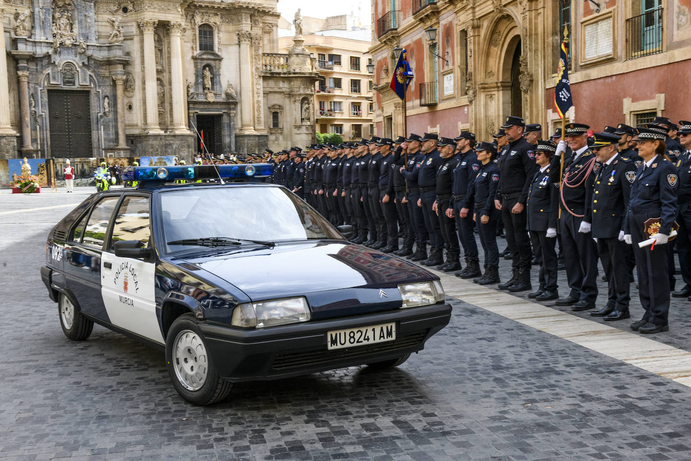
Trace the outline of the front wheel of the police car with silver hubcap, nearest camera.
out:
M 218 377 L 204 341 L 192 314 L 183 314 L 173 321 L 166 336 L 166 368 L 173 387 L 195 405 L 220 402 L 233 386 Z

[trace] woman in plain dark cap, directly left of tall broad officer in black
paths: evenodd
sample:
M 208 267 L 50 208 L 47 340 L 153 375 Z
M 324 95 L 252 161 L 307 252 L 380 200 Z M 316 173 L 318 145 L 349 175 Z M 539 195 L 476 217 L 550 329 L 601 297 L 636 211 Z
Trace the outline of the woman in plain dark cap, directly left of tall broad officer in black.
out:
M 480 223 L 477 232 L 480 234 L 480 243 L 484 250 L 484 275 L 479 279 L 473 279 L 480 285 L 499 283 L 499 250 L 497 248 L 497 220 L 501 212 L 494 206 L 494 197 L 497 194 L 499 184 L 499 167 L 493 162 L 497 156 L 497 148 L 491 142 L 481 142 L 475 148 L 480 170 L 468 187 L 466 203 L 475 203 L 473 220 Z

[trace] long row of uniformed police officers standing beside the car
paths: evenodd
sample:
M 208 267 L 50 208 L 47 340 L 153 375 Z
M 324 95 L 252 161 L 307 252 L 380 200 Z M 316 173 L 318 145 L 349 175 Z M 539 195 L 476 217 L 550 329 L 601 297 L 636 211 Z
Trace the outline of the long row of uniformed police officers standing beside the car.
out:
M 424 133 L 396 140 L 375 136 L 339 145 L 313 144 L 305 152 L 292 147 L 276 154 L 267 151 L 267 156 L 276 163 L 273 181 L 301 196 L 334 225 L 353 225 L 354 243 L 407 256 L 482 285 L 531 290 L 534 256 L 540 265 L 540 285 L 529 297 L 589 310 L 596 307 L 600 258 L 608 281 L 607 304 L 591 315 L 616 321 L 630 318 L 630 271 L 635 263 L 645 315 L 632 323 L 632 329 L 655 333 L 668 329 L 674 263 L 667 243 L 675 220 L 685 282 L 675 295 L 691 294 L 691 223 L 686 216 L 691 122 L 681 122 L 681 143 L 670 140 L 664 123 L 671 124 L 669 120 L 656 122 L 638 129 L 608 126 L 592 138 L 587 135 L 589 126 L 567 124 L 565 140 L 555 144 L 538 139 L 538 124 L 509 116 L 491 143 L 477 143 L 467 131 L 453 139 Z M 632 149 L 634 143 L 638 151 Z M 657 218 L 657 227 L 645 229 L 650 218 Z M 513 256 L 512 276 L 504 283 L 498 273 L 500 222 Z M 475 229 L 484 252 L 484 272 Z M 636 243 L 647 238 L 646 230 L 656 244 L 639 249 Z M 557 288 L 557 238 L 569 285 L 562 298 Z

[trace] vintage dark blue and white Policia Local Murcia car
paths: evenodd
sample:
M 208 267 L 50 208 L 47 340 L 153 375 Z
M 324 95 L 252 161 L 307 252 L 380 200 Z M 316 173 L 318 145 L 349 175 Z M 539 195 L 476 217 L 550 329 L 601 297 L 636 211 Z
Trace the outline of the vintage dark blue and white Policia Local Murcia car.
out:
M 99 323 L 165 350 L 176 391 L 205 405 L 232 382 L 397 366 L 448 323 L 437 276 L 349 243 L 283 187 L 155 181 L 206 173 L 128 169 L 140 187 L 94 194 L 55 225 L 41 277 L 66 337 Z

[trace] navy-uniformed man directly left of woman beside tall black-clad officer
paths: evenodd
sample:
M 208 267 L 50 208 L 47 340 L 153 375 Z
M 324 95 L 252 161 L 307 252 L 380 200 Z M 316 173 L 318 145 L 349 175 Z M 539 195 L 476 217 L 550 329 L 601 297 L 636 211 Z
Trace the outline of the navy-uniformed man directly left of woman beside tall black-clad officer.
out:
M 502 136 L 504 136 L 502 134 Z M 475 243 L 475 221 L 473 220 L 473 206 L 475 203 L 468 202 L 468 186 L 472 185 L 475 175 L 480 171 L 482 164 L 477 160 L 477 155 L 473 150 L 475 147 L 475 133 L 461 131 L 456 142 L 458 163 L 453 169 L 453 190 L 451 191 L 451 207 L 446 216 L 455 218 L 458 229 L 458 237 L 463 246 L 463 253 L 466 260 L 464 270 L 455 275 L 462 279 L 473 279 L 482 275 L 480 271 L 480 258 L 477 253 L 477 243 Z M 504 144 L 505 145 L 505 144 Z

